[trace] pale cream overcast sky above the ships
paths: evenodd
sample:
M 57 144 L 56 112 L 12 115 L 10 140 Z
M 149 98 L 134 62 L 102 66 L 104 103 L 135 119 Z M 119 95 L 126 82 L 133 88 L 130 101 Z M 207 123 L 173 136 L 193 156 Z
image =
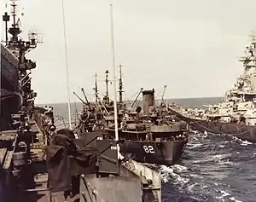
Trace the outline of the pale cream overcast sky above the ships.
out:
M 94 100 L 96 73 L 100 95 L 106 70 L 113 80 L 110 3 L 64 0 L 71 101 L 79 101 L 73 92 L 82 95 L 81 87 Z M 166 98 L 222 96 L 236 83 L 243 70 L 238 57 L 256 28 L 255 0 L 112 3 L 115 63 L 124 65 L 125 98 L 135 98 L 140 88 L 155 89 L 160 97 L 164 85 Z M 67 102 L 61 0 L 20 0 L 21 12 L 22 38 L 33 30 L 44 42 L 28 54 L 37 62 L 36 103 Z M 1 38 L 3 30 L 2 23 Z M 109 88 L 113 95 L 113 84 Z

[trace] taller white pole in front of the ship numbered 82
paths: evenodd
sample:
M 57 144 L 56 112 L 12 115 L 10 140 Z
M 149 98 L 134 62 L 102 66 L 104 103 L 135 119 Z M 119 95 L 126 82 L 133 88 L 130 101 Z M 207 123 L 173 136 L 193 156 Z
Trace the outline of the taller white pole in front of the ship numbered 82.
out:
M 110 4 L 110 27 L 111 27 L 111 42 L 112 42 L 112 62 L 113 62 L 113 109 L 114 109 L 114 132 L 115 141 L 119 141 L 118 131 L 118 114 L 117 114 L 117 98 L 116 98 L 116 68 L 115 68 L 115 53 L 114 53 L 114 36 L 113 36 L 113 4 Z M 118 159 L 119 159 L 119 145 L 118 148 Z

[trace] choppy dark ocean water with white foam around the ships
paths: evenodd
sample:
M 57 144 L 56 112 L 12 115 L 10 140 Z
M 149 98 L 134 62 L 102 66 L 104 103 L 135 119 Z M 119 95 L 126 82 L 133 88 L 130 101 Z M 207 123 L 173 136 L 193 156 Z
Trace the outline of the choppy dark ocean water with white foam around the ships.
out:
M 175 99 L 178 105 L 200 107 L 220 98 Z M 67 104 L 51 105 L 55 117 L 67 121 Z M 72 105 L 81 110 L 82 104 Z M 62 122 L 63 124 L 63 122 Z M 163 202 L 256 201 L 256 145 L 231 136 L 191 131 L 189 143 L 179 163 L 151 165 L 162 176 Z

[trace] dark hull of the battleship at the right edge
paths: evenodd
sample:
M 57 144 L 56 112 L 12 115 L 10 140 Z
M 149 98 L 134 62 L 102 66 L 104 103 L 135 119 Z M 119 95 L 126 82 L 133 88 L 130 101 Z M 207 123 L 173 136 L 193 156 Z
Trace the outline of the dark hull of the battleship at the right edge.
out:
M 202 119 L 189 118 L 182 113 L 171 109 L 172 113 L 176 114 L 178 118 L 186 121 L 192 130 L 199 130 L 201 132 L 207 131 L 214 134 L 225 134 L 236 136 L 243 141 L 256 142 L 256 126 L 236 123 L 221 123 L 214 121 L 207 121 Z

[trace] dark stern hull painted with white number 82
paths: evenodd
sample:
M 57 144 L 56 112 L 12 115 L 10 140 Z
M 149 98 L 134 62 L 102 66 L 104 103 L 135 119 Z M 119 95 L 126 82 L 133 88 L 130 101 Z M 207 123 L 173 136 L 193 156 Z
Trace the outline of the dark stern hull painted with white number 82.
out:
M 125 141 L 119 146 L 120 153 L 131 154 L 138 162 L 172 165 L 182 156 L 186 144 L 187 141 Z

